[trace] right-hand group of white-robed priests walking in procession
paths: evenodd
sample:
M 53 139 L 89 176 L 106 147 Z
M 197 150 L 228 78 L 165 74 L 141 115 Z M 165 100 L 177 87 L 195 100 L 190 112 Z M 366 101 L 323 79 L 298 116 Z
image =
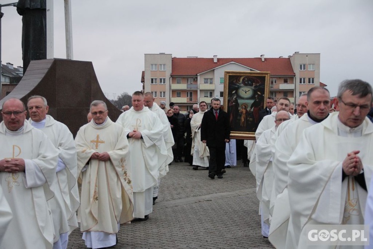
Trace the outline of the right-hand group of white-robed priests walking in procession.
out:
M 373 199 L 368 192 L 373 188 L 373 124 L 367 117 L 372 87 L 346 80 L 333 108 L 331 104 L 323 87 L 300 96 L 295 115 L 290 101 L 280 98 L 277 112 L 267 112 L 255 133 L 250 169 L 256 178 L 262 235 L 276 248 L 313 247 L 310 225 L 320 230 L 324 225 L 373 226 L 373 202 L 367 202 L 368 194 Z

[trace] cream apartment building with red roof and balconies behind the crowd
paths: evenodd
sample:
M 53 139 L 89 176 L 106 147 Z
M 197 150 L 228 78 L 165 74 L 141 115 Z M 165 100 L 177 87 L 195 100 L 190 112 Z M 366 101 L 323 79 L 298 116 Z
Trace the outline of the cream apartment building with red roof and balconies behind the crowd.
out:
M 172 57 L 172 54 L 145 54 L 142 83 L 155 102 L 174 102 L 183 112 L 200 101 L 219 98 L 224 103 L 224 72 L 270 72 L 270 95 L 288 97 L 292 103 L 320 85 L 320 54 L 295 52 L 287 58 L 212 58 Z M 321 83 L 322 84 L 322 83 Z

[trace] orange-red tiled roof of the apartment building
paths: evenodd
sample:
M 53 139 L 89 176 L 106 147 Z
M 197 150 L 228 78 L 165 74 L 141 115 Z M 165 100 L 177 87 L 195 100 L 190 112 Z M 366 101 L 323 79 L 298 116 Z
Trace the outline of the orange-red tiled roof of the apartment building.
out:
M 291 75 L 295 73 L 289 58 L 172 58 L 172 76 L 191 76 L 211 70 L 213 68 L 236 62 L 262 72 L 271 72 L 271 75 Z

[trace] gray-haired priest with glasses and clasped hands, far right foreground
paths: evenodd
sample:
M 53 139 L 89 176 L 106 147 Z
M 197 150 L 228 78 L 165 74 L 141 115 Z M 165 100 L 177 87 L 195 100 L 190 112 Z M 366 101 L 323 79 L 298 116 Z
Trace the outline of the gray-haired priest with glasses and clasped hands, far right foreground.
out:
M 364 224 L 373 170 L 373 124 L 366 118 L 372 87 L 361 80 L 344 81 L 335 104 L 339 112 L 305 129 L 287 163 L 286 248 L 307 248 L 306 225 Z

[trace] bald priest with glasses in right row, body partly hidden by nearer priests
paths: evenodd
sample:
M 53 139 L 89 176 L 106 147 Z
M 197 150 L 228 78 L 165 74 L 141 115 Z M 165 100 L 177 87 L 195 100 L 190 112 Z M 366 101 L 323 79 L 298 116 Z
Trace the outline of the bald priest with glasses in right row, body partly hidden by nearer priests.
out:
M 272 150 L 271 137 L 275 134 L 279 125 L 290 120 L 290 115 L 286 111 L 276 113 L 275 126 L 265 130 L 259 137 L 256 144 L 256 174 L 257 197 L 261 202 L 262 235 L 268 238 L 270 232 L 270 201 L 273 186 Z

